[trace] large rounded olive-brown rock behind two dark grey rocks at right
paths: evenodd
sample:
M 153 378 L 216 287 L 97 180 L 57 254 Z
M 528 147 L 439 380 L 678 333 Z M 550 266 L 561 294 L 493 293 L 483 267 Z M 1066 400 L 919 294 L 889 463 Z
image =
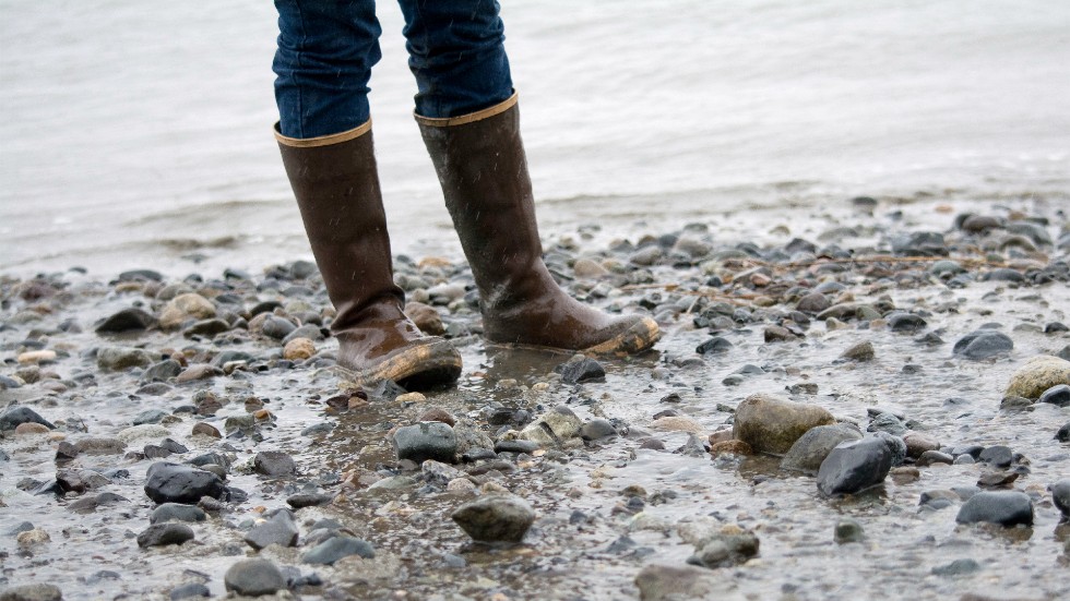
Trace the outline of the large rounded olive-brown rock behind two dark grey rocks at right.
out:
M 816 405 L 757 394 L 736 408 L 732 434 L 749 444 L 756 453 L 783 455 L 811 428 L 835 422 L 832 413 Z

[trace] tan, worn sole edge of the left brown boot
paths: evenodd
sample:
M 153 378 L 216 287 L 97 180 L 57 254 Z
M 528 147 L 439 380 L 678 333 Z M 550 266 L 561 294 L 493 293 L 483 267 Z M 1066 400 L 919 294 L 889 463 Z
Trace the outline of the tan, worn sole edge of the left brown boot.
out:
M 354 370 L 338 365 L 338 375 L 355 386 L 391 380 L 406 390 L 426 390 L 453 384 L 461 376 L 461 353 L 445 340 L 399 349 L 376 364 Z

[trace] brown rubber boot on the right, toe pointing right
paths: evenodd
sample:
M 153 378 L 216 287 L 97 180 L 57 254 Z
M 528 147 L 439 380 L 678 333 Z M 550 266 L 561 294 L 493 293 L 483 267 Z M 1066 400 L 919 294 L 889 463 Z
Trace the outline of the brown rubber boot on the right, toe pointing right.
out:
M 515 94 L 472 115 L 416 121 L 479 288 L 488 340 L 618 356 L 654 345 L 653 320 L 576 301 L 543 263 Z

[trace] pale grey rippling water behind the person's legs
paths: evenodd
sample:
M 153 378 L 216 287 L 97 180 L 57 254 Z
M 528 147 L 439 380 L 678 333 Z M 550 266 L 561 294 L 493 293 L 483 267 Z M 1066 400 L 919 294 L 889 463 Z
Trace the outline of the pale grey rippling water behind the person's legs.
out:
M 395 252 L 459 256 L 402 20 L 372 81 Z M 1070 2 L 503 0 L 544 233 L 750 207 L 1070 207 Z M 310 256 L 263 0 L 0 0 L 0 272 Z

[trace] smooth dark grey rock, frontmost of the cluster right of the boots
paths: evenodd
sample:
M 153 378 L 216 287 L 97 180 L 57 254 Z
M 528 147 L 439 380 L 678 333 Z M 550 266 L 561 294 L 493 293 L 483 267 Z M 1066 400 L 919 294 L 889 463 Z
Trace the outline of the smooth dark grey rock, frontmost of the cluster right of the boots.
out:
M 881 438 L 841 443 L 821 462 L 818 490 L 827 495 L 854 494 L 884 481 L 892 469 L 892 452 Z

